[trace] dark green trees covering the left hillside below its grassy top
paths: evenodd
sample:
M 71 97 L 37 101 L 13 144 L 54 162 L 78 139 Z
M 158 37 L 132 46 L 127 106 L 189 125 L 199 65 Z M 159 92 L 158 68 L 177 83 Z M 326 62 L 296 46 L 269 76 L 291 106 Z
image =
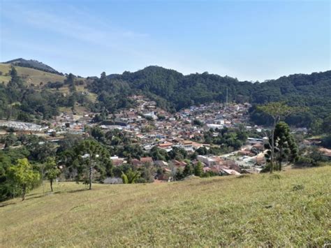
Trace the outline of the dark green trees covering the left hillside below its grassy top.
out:
M 73 80 L 73 76 L 68 75 Z M 65 80 L 64 84 L 69 85 Z M 73 82 L 71 82 L 71 85 Z M 72 89 L 72 88 L 71 88 Z M 10 81 L 0 84 L 0 118 L 19 119 L 31 122 L 34 119 L 50 119 L 59 114 L 59 107 L 75 108 L 75 103 L 88 106 L 87 96 L 71 90 L 68 94 L 54 92 L 47 87 L 28 86 L 17 73 L 15 67 L 10 70 Z

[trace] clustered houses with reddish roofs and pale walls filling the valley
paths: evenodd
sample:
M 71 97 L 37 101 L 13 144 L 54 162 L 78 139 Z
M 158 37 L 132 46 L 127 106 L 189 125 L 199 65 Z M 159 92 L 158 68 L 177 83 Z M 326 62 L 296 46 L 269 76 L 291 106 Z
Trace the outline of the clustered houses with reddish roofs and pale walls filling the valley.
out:
M 57 141 L 64 133 L 85 135 L 86 126 L 100 126 L 104 131 L 119 129 L 127 136 L 138 140 L 142 149 L 148 152 L 153 147 L 159 147 L 170 152 L 174 147 L 193 153 L 200 147 L 209 149 L 208 144 L 193 140 L 203 140 L 203 133 L 213 129 L 233 128 L 243 126 L 245 129 L 255 129 L 261 132 L 258 126 L 248 126 L 250 108 L 249 103 L 209 103 L 207 105 L 191 106 L 171 114 L 159 108 L 155 101 L 150 101 L 145 96 L 131 96 L 135 101 L 135 108 L 122 110 L 101 123 L 94 123 L 92 119 L 97 113 L 61 112 L 49 126 L 41 126 L 26 122 L 0 121 L 0 126 L 13 127 L 18 131 L 31 133 L 44 133 L 51 141 Z M 217 135 L 217 133 L 216 133 Z M 306 140 L 307 141 L 307 140 Z M 240 175 L 240 173 L 259 173 L 265 165 L 265 143 L 267 138 L 248 138 L 247 143 L 239 150 L 221 156 L 198 156 L 196 161 L 203 163 L 205 172 L 212 171 L 221 175 Z M 308 142 L 308 141 L 307 141 Z M 307 145 L 304 144 L 303 145 Z M 330 149 L 321 149 L 325 156 L 331 157 Z M 163 168 L 165 174 L 171 175 L 173 168 L 186 166 L 184 161 L 153 161 L 150 157 L 132 159 L 113 156 L 115 166 L 130 163 L 133 166 L 152 164 Z M 167 177 L 164 180 L 168 180 Z M 167 174 L 167 175 L 168 175 Z M 170 176 L 169 176 L 170 177 Z

